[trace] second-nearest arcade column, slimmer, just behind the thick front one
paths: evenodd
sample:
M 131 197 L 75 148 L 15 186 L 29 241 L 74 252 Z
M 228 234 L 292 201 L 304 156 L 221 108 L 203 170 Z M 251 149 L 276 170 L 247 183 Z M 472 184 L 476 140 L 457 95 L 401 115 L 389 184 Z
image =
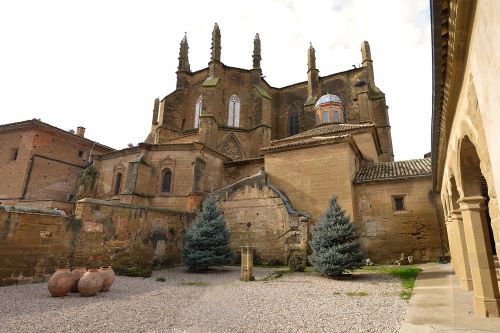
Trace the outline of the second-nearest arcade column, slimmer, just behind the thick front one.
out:
M 467 252 L 467 243 L 465 240 L 464 222 L 460 210 L 451 212 L 451 227 L 453 228 L 453 238 L 455 246 L 455 255 L 460 271 L 460 287 L 464 290 L 473 290 L 472 275 L 470 272 L 469 253 Z

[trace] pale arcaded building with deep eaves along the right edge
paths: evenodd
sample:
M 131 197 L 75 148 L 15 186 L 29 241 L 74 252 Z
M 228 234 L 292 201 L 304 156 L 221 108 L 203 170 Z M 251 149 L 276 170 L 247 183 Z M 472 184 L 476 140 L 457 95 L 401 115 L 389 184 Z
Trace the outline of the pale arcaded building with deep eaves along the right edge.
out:
M 498 317 L 500 2 L 434 0 L 431 12 L 433 190 L 461 287 L 476 314 Z

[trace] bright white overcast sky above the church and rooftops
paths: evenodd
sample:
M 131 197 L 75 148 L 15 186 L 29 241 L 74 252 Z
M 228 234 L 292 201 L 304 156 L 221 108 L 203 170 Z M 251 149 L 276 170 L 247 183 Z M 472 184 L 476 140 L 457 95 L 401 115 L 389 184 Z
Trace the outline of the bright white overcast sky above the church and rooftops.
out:
M 430 151 L 428 0 L 2 1 L 0 123 L 32 118 L 113 148 L 144 141 L 155 97 L 175 89 L 187 32 L 191 70 L 210 60 L 214 22 L 223 63 L 251 68 L 260 34 L 266 81 L 307 80 L 307 48 L 320 76 L 361 63 L 370 42 L 386 94 L 397 160 Z M 335 93 L 335 92 L 330 92 Z M 194 110 L 194 109 L 193 109 Z

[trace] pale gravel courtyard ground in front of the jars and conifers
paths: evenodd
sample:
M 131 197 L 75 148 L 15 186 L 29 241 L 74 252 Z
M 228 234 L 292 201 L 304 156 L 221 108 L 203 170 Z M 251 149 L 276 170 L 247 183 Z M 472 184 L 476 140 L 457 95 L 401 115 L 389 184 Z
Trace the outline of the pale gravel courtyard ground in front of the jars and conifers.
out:
M 273 271 L 256 268 L 255 276 Z M 2 287 L 0 332 L 387 333 L 399 331 L 406 312 L 400 282 L 389 276 L 331 280 L 293 273 L 241 282 L 239 272 L 173 268 L 148 279 L 118 276 L 109 292 L 90 298 L 50 297 L 46 283 Z M 183 284 L 193 281 L 207 285 Z

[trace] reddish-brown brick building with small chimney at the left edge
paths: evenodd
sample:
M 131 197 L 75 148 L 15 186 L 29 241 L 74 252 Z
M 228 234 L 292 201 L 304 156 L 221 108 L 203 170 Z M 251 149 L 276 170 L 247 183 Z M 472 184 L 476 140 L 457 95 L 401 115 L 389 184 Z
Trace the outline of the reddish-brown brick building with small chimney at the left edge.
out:
M 72 133 L 37 119 L 0 125 L 0 204 L 70 212 L 82 170 L 110 151 L 86 139 L 84 127 Z

